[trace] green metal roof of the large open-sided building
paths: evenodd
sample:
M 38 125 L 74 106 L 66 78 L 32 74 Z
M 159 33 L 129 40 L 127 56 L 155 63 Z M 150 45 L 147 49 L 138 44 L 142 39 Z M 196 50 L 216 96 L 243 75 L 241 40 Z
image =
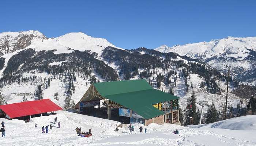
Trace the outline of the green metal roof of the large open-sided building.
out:
M 164 114 L 153 104 L 179 98 L 153 89 L 144 79 L 101 82 L 94 83 L 94 86 L 101 96 L 135 111 L 145 119 Z

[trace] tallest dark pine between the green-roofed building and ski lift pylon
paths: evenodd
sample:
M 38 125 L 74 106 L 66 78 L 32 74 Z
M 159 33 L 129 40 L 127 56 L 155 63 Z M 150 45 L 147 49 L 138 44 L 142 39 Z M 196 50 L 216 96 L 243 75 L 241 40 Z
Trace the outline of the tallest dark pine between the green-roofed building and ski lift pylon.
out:
M 187 111 L 185 112 L 185 115 L 186 115 L 185 125 L 191 124 L 190 117 L 193 118 L 192 124 L 198 124 L 196 123 L 196 97 L 195 97 L 194 91 L 192 91 L 191 97 L 187 99 L 187 104 L 192 105 L 192 108 L 187 109 Z

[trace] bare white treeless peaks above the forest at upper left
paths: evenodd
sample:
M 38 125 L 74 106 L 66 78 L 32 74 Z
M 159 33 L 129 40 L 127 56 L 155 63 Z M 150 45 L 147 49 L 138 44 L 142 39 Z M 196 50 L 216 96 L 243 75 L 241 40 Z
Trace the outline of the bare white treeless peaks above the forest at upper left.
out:
M 91 50 L 101 54 L 104 47 L 113 46 L 103 38 L 93 38 L 82 32 L 72 32 L 56 38 L 47 38 L 39 31 L 2 32 L 0 33 L 0 57 L 20 49 L 33 48 L 35 51 L 53 50 L 56 53 L 70 53 L 71 49 Z

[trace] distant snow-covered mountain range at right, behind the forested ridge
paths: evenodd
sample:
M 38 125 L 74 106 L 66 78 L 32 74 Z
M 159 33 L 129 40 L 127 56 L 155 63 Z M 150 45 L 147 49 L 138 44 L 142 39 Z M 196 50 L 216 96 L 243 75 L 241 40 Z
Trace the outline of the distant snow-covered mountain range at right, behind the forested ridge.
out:
M 173 47 L 162 45 L 155 50 L 198 58 L 220 70 L 230 65 L 233 76 L 256 84 L 256 37 L 227 37 Z

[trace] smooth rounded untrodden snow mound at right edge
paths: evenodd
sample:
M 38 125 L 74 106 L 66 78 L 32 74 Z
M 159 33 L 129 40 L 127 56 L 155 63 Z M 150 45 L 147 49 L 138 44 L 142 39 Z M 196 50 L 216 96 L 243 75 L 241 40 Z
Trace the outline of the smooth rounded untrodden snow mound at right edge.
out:
M 256 115 L 241 116 L 210 124 L 188 125 L 190 128 L 222 128 L 230 130 L 256 130 Z

